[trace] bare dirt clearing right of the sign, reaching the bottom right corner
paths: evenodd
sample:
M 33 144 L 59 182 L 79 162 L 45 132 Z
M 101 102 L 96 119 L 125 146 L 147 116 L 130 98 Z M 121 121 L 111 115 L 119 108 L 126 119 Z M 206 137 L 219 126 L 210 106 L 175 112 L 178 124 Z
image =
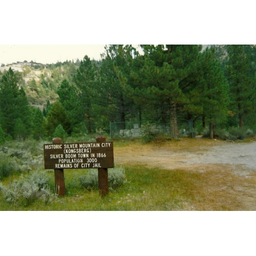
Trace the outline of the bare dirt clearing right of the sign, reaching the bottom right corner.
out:
M 256 210 L 256 141 L 182 139 L 114 148 L 117 164 L 202 174 L 206 200 L 186 210 Z

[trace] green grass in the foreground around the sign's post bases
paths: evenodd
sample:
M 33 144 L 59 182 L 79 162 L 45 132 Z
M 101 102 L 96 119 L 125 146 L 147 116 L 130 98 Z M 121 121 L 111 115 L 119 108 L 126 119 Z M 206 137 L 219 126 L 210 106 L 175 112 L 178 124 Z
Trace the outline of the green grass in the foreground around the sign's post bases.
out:
M 25 207 L 0 197 L 1 210 L 236 210 L 242 202 L 221 187 L 235 185 L 237 179 L 222 171 L 197 173 L 126 166 L 129 183 L 101 198 L 97 190 L 88 191 L 75 182 L 79 170 L 66 170 L 66 196 L 44 205 L 34 202 Z M 52 174 L 54 175 L 54 174 Z M 217 179 L 221 176 L 222 179 Z M 51 186 L 54 187 L 52 181 Z M 232 186 L 232 185 L 231 185 Z M 209 190 L 209 188 L 211 188 Z M 228 200 L 227 200 L 228 198 Z M 227 204 L 227 202 L 229 202 Z

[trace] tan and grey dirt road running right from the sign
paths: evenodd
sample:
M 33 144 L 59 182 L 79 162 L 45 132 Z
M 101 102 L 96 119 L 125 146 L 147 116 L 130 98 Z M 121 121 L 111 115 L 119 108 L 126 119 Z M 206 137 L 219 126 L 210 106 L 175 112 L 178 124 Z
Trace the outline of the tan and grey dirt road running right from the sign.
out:
M 123 150 L 118 148 L 115 151 L 115 160 L 121 163 L 143 163 L 165 169 L 189 168 L 194 164 L 225 164 L 247 168 L 250 173 L 256 173 L 256 141 L 212 141 L 209 144 L 201 140 L 201 143 L 196 145 L 188 144 L 187 148 L 185 143 L 181 143 L 181 147 L 178 148 L 172 143 L 130 146 Z

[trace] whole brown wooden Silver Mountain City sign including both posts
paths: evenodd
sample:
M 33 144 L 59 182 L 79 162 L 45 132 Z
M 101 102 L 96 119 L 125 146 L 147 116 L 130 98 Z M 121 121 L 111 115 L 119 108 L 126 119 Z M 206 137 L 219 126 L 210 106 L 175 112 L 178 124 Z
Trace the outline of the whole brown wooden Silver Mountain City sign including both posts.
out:
M 108 168 L 114 167 L 113 142 L 104 136 L 96 142 L 62 143 L 54 138 L 53 144 L 44 144 L 45 169 L 54 169 L 56 194 L 65 196 L 64 169 L 97 168 L 99 193 L 109 193 Z

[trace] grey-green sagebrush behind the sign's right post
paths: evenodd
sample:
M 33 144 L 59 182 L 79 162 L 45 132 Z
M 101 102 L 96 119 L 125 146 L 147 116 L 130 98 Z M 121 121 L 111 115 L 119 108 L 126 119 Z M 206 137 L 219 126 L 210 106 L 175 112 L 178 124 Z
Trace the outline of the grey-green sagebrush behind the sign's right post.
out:
M 109 181 L 109 189 L 113 190 L 114 188 L 120 186 L 121 184 L 127 182 L 125 179 L 125 171 L 122 166 L 117 166 L 114 168 L 108 169 L 108 181 Z M 88 189 L 98 189 L 98 170 L 97 169 L 89 169 L 87 175 L 83 175 L 79 177 L 80 184 Z

